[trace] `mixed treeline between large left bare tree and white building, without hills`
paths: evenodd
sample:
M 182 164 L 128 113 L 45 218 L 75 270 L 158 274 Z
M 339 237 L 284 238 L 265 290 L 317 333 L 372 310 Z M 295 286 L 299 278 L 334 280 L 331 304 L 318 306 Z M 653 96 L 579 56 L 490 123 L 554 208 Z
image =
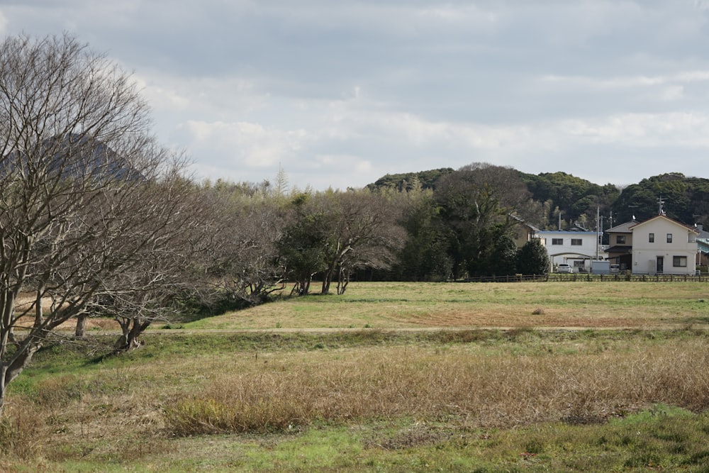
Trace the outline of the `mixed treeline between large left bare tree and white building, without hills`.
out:
M 354 276 L 430 281 L 548 267 L 538 242 L 518 248 L 526 240 L 519 216 L 542 206 L 514 169 L 441 172 L 435 189 L 418 181 L 288 191 L 286 182 L 281 172 L 273 185 L 199 184 L 218 243 L 198 268 L 213 291 L 200 294 L 258 304 L 286 284 L 291 294 L 342 294 Z

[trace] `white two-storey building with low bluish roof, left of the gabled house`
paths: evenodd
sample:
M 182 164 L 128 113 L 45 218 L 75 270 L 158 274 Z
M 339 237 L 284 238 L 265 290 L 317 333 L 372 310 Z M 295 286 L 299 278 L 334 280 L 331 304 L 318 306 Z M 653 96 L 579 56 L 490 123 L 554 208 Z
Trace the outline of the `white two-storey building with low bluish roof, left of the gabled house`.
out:
M 539 230 L 537 237 L 542 238 L 552 267 L 564 263 L 571 265 L 574 272 L 589 272 L 591 260 L 598 255 L 598 233 L 589 230 Z M 552 268 L 552 269 L 553 269 Z

